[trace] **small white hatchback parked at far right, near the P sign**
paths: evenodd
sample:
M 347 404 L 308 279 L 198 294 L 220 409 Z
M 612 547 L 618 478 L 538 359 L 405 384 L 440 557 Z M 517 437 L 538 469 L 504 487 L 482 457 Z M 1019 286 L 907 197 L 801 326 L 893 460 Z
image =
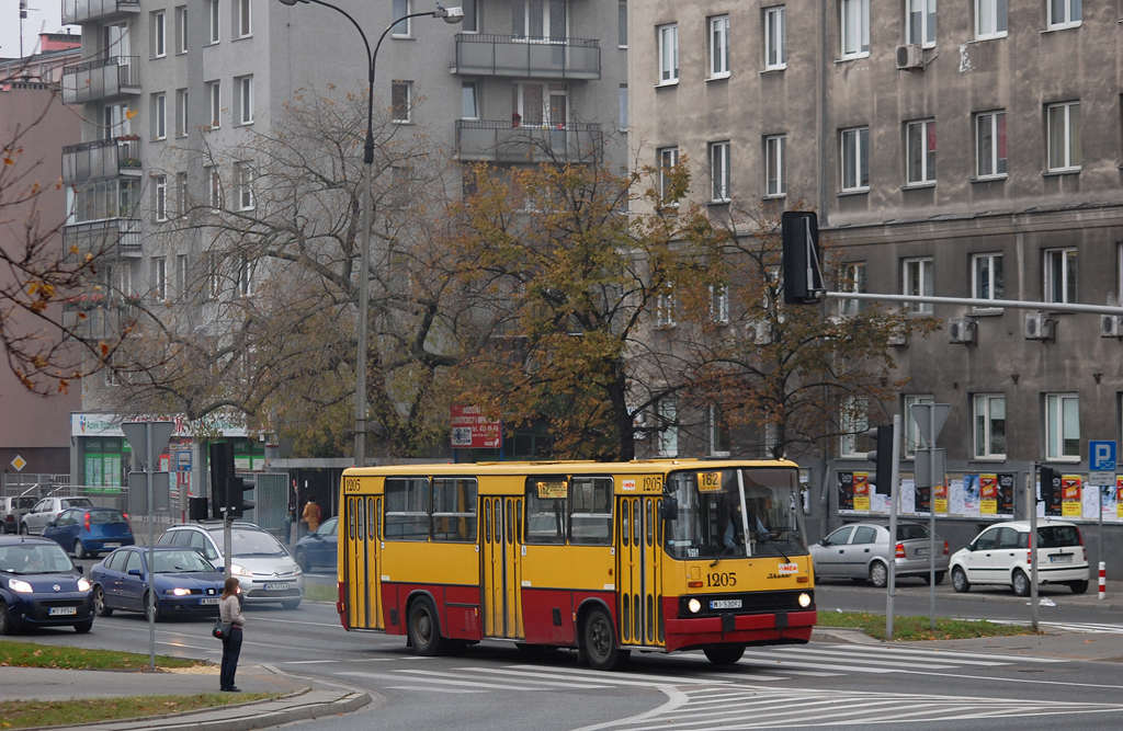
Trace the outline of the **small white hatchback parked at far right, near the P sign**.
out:
M 1029 596 L 1029 549 L 1028 520 L 990 526 L 951 557 L 951 585 L 957 592 L 969 592 L 971 584 L 999 584 Z M 1074 594 L 1084 594 L 1089 576 L 1080 529 L 1062 521 L 1039 521 L 1038 584 L 1065 584 Z

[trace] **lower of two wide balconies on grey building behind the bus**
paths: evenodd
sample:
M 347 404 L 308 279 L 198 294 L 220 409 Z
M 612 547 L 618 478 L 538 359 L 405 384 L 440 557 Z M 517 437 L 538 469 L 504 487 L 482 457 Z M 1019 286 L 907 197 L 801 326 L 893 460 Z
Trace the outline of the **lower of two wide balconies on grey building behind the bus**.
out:
M 490 163 L 574 163 L 600 154 L 601 126 L 533 125 L 460 119 L 456 153 L 462 161 Z

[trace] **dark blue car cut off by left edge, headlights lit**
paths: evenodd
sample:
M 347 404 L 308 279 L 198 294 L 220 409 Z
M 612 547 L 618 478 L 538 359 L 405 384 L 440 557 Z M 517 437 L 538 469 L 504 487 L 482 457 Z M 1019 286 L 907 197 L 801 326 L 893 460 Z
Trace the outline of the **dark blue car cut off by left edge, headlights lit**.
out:
M 0 536 L 0 634 L 18 627 L 93 628 L 90 582 L 53 540 Z

